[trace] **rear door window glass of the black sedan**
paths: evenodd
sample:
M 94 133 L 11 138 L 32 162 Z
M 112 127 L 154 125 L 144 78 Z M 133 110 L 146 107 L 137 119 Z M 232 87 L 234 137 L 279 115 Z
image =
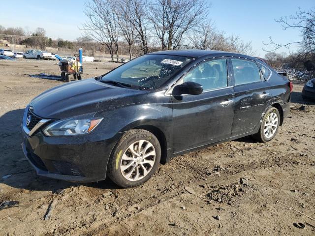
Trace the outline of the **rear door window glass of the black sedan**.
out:
M 255 62 L 241 59 L 232 59 L 235 85 L 261 81 L 260 71 Z

